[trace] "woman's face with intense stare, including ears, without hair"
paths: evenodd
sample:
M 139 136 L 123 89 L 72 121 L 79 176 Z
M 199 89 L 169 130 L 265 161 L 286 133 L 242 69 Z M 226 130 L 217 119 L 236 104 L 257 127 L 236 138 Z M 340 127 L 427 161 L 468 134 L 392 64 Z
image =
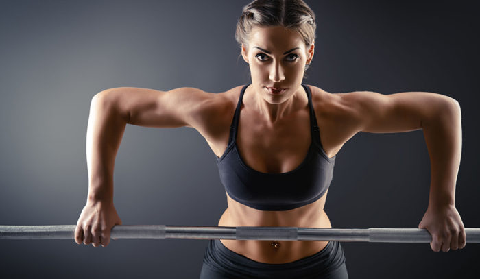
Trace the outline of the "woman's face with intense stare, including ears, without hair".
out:
M 313 58 L 314 45 L 306 49 L 298 32 L 281 26 L 254 27 L 243 59 L 250 65 L 252 86 L 270 104 L 282 104 L 300 90 L 305 64 Z M 286 88 L 280 93 L 268 87 Z

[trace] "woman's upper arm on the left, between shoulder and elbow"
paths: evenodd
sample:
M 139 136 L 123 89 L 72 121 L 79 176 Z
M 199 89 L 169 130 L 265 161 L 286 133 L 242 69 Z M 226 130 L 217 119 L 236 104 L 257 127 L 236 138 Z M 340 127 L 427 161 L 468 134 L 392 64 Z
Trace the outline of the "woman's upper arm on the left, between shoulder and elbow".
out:
M 149 88 L 119 87 L 104 90 L 129 124 L 156 128 L 191 127 L 198 104 L 208 93 L 190 87 L 160 91 Z M 108 96 L 108 97 L 107 97 Z

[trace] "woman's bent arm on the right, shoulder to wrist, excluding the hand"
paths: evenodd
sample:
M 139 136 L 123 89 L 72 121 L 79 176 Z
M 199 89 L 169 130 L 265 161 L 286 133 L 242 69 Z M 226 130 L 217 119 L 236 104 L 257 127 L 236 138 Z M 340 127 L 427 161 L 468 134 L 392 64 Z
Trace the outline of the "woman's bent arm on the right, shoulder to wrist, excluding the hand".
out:
M 429 204 L 454 205 L 461 156 L 461 112 L 455 99 L 427 92 L 350 93 L 357 129 L 391 133 L 422 129 L 431 162 Z

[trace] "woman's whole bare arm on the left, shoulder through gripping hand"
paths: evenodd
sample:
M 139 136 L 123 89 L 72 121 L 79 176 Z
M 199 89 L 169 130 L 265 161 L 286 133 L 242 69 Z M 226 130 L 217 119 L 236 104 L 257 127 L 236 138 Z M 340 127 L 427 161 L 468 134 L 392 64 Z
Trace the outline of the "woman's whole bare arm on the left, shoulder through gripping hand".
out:
M 113 206 L 113 171 L 125 126 L 202 127 L 208 94 L 196 88 L 167 92 L 146 88 L 112 88 L 91 101 L 86 133 L 88 196 L 77 221 L 75 242 L 108 245 L 110 230 L 121 224 Z M 205 109 L 206 108 L 206 109 Z

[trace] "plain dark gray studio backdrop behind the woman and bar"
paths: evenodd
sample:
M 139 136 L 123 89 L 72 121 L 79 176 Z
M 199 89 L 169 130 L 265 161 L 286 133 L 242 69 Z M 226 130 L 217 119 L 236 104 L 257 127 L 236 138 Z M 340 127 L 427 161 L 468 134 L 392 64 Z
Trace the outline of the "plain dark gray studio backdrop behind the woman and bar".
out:
M 317 16 L 306 84 L 332 93 L 429 91 L 459 101 L 456 204 L 477 215 L 479 20 L 473 1 L 307 1 Z M 117 86 L 212 93 L 249 83 L 235 23 L 249 1 L 1 1 L 0 224 L 74 224 L 87 193 L 95 93 Z M 337 155 L 326 213 L 336 228 L 417 228 L 427 209 L 422 131 L 357 134 Z M 115 165 L 123 224 L 216 226 L 215 156 L 189 128 L 128 125 Z M 208 241 L 0 241 L 3 278 L 197 278 Z M 350 278 L 476 278 L 480 246 L 343 243 Z M 459 276 L 461 274 L 461 276 Z M 476 274 L 476 276 L 475 276 Z M 114 277 L 115 276 L 115 277 Z

